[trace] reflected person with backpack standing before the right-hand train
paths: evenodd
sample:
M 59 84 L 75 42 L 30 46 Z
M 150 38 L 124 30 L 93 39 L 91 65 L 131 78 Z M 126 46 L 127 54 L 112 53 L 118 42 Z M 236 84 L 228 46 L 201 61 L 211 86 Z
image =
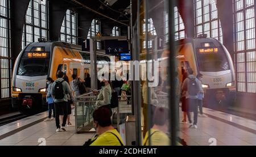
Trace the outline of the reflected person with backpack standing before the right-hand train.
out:
M 188 68 L 188 78 L 186 78 L 182 85 L 182 90 L 186 91 L 186 101 L 187 101 L 187 116 L 189 121 L 189 128 L 197 128 L 197 97 L 200 92 L 199 80 L 193 75 L 193 70 L 191 67 Z M 191 121 L 190 112 L 194 113 L 193 124 Z

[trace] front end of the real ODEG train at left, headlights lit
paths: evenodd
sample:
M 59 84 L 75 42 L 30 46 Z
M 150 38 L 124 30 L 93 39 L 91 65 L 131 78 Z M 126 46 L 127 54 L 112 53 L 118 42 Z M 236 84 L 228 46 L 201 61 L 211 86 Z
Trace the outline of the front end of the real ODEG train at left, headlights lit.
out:
M 50 69 L 50 43 L 31 43 L 16 58 L 13 70 L 12 105 L 22 113 L 47 107 L 46 78 Z

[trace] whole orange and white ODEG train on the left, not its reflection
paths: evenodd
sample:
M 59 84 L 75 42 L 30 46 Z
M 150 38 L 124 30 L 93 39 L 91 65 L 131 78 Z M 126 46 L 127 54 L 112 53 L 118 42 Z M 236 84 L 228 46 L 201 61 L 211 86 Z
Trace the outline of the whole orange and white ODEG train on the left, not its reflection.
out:
M 97 53 L 97 62 L 108 61 L 107 55 Z M 81 46 L 56 42 L 31 43 L 16 58 L 12 81 L 12 105 L 20 112 L 40 111 L 46 105 L 46 78 L 56 79 L 63 70 L 72 80 L 72 74 L 85 78 L 90 71 L 90 54 Z

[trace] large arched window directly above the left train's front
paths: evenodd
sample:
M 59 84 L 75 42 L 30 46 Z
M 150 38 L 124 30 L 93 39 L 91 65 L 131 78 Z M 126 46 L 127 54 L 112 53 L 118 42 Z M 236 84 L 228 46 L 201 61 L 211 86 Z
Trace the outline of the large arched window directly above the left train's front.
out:
M 29 43 L 38 41 L 39 38 L 48 40 L 49 17 L 48 1 L 31 0 L 26 13 L 26 21 L 23 27 L 22 49 Z

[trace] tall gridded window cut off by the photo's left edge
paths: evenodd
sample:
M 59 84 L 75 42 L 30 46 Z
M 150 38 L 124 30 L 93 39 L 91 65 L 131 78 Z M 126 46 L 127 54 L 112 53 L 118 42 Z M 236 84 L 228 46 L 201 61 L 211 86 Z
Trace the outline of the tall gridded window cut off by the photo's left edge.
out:
M 11 93 L 11 43 L 9 0 L 0 0 L 0 99 Z

